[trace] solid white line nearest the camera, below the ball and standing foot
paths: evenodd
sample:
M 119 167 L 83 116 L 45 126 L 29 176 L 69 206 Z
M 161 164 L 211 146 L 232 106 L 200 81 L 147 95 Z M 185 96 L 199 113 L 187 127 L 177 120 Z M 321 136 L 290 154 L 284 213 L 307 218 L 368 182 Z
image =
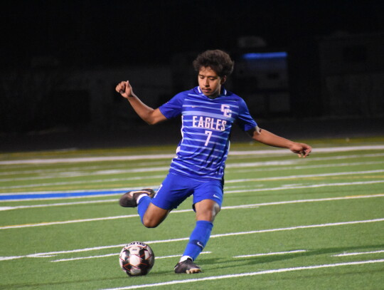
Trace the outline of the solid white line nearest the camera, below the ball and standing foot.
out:
M 160 282 L 160 283 L 154 283 L 154 284 L 132 285 L 132 286 L 127 286 L 127 287 L 109 288 L 109 289 L 102 289 L 102 290 L 140 289 L 140 288 L 148 288 L 148 287 L 156 287 L 156 286 L 197 283 L 200 281 L 211 281 L 211 280 L 218 280 L 218 279 L 230 279 L 230 278 L 238 278 L 238 277 L 246 277 L 246 276 L 256 276 L 256 275 L 262 275 L 262 274 L 275 274 L 275 273 L 284 273 L 284 272 L 290 272 L 290 271 L 334 268 L 337 266 L 355 266 L 355 265 L 375 264 L 375 263 L 383 263 L 383 262 L 384 262 L 384 259 L 378 259 L 378 260 L 369 260 L 369 261 L 350 261 L 350 262 L 346 262 L 346 263 L 336 263 L 336 264 L 297 266 L 297 267 L 292 267 L 292 268 L 270 269 L 270 270 L 264 270 L 264 271 L 241 273 L 241 274 L 228 274 L 228 275 L 221 275 L 221 276 L 208 276 L 208 277 L 203 277 L 203 278 L 174 280 L 174 281 L 166 281 L 166 282 Z

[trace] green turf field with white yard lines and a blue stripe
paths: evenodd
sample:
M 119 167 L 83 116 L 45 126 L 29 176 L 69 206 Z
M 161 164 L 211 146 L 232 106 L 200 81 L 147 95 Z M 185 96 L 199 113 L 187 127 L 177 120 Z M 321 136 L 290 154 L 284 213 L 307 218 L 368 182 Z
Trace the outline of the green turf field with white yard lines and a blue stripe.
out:
M 223 208 L 201 274 L 174 274 L 191 200 L 156 229 L 124 190 L 159 187 L 175 147 L 0 154 L 0 289 L 384 289 L 384 138 L 232 144 Z M 129 277 L 118 253 L 142 241 L 156 261 Z

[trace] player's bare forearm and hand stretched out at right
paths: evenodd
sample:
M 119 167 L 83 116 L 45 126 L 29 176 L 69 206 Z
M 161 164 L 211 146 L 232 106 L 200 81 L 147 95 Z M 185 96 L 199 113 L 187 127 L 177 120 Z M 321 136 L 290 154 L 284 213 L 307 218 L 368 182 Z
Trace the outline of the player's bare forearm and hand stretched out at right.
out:
M 297 143 L 286 138 L 282 138 L 257 126 L 252 130 L 247 131 L 247 133 L 257 142 L 274 147 L 287 148 L 299 155 L 299 157 L 308 156 L 312 150 L 312 147 L 305 143 Z

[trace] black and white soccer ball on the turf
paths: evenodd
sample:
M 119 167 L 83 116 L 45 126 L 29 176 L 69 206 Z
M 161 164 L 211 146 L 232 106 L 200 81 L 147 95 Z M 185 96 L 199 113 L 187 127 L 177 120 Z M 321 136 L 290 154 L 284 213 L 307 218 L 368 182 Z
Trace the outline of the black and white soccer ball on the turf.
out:
M 143 242 L 132 242 L 122 248 L 119 262 L 129 276 L 146 275 L 154 266 L 154 252 Z

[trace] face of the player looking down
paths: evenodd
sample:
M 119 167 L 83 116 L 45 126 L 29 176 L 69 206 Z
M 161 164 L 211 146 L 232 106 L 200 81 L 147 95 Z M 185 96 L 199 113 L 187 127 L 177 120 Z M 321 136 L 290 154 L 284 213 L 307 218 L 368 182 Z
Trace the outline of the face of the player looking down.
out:
M 207 97 L 216 98 L 220 94 L 223 83 L 225 83 L 225 76 L 218 76 L 209 66 L 203 66 L 198 71 L 198 86 Z

